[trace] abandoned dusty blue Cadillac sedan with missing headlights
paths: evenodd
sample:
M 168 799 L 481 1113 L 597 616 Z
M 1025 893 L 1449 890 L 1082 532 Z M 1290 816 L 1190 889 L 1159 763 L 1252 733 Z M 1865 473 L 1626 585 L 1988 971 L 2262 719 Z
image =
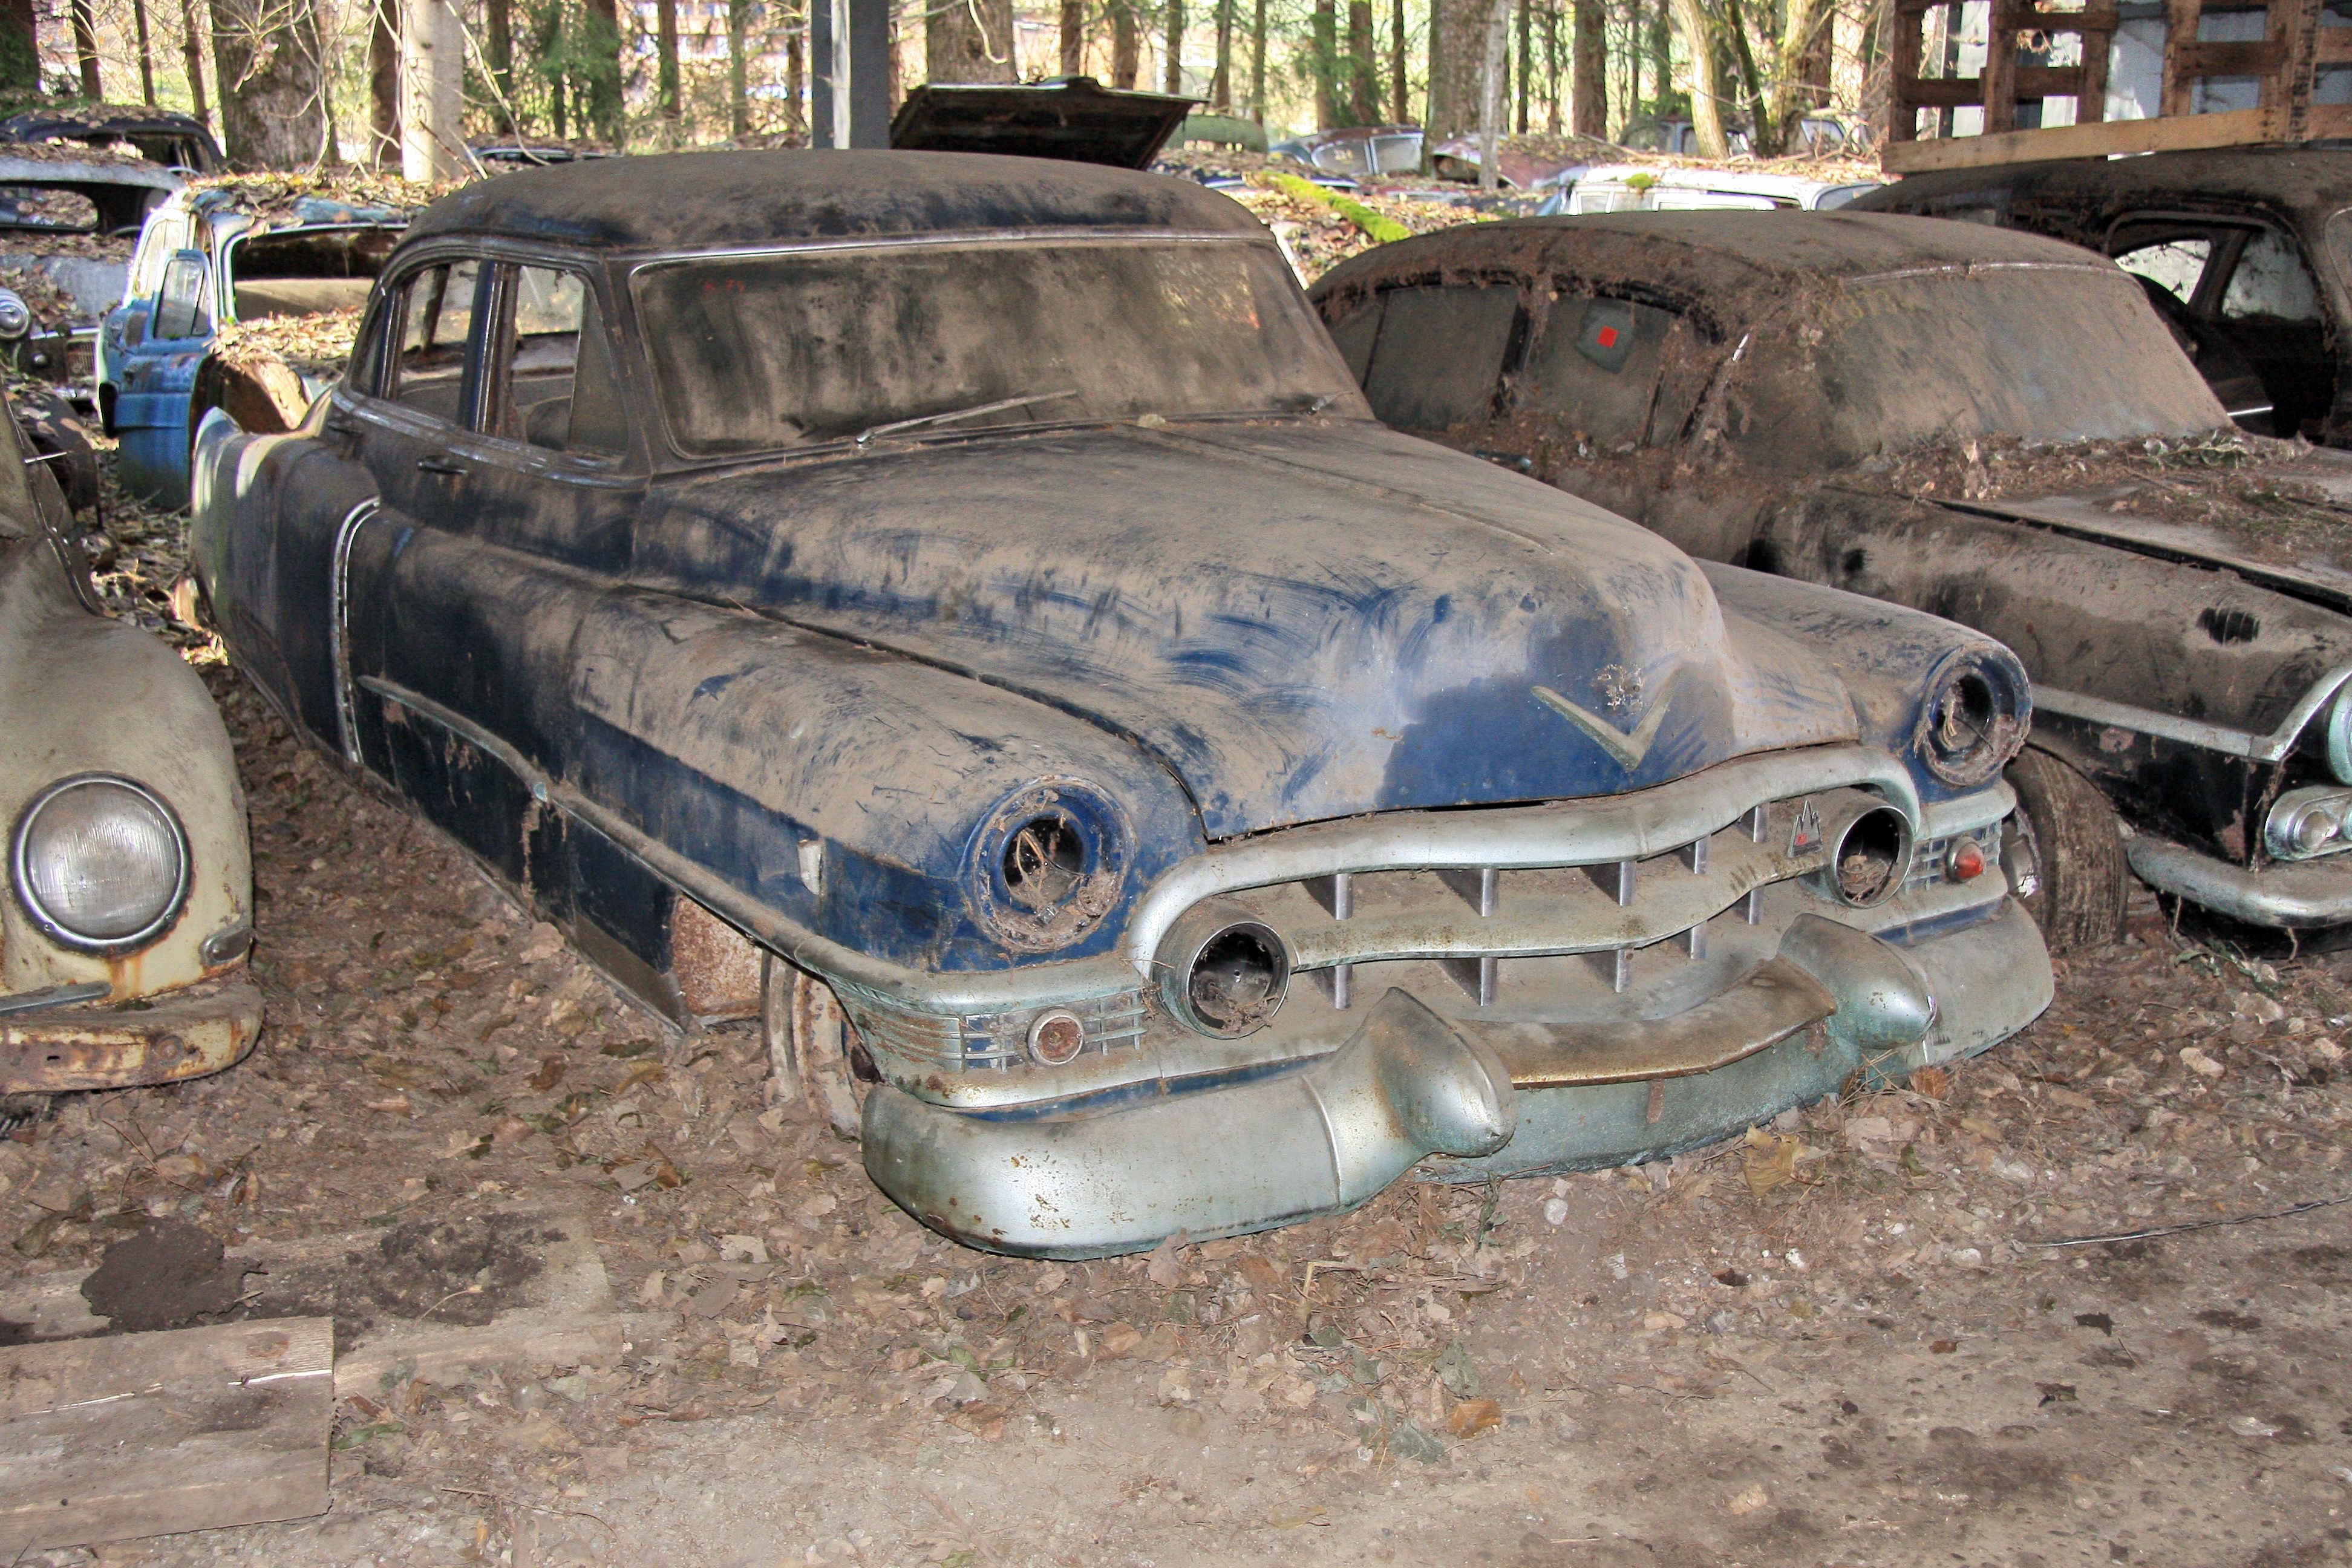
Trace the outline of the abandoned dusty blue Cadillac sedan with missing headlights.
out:
M 289 724 L 981 1248 L 1644 1159 L 2051 994 L 2006 649 L 1383 430 L 1188 181 L 475 186 L 299 430 L 207 416 L 195 555 Z

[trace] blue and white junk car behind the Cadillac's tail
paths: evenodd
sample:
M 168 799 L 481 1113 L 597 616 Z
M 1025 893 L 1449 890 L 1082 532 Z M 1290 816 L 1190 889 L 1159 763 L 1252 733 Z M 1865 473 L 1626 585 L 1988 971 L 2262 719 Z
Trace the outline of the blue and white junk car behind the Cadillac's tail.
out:
M 188 503 L 188 444 L 212 407 L 247 430 L 292 428 L 325 386 L 308 362 L 214 355 L 235 322 L 329 317 L 367 303 L 407 209 L 275 200 L 278 181 L 193 186 L 146 221 L 129 277 L 99 329 L 96 400 L 120 442 L 115 475 L 158 505 Z M 306 374 L 308 371 L 308 374 Z

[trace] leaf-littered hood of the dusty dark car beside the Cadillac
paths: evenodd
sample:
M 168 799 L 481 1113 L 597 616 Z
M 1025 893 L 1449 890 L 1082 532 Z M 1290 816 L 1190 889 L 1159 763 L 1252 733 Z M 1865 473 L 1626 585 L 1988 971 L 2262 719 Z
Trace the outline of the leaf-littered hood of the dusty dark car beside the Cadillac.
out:
M 2305 508 L 2343 512 L 2343 531 L 2281 527 L 2279 517 L 2251 508 L 2244 517 L 2218 522 L 2152 517 L 2147 512 L 2161 508 L 2166 496 L 2145 482 L 2042 496 L 1983 501 L 1915 496 L 1915 501 L 2027 522 L 2157 559 L 2220 567 L 2307 604 L 2352 614 L 2352 456 L 2312 451 L 2239 473 L 2246 475 L 2249 489 L 2272 487 L 2303 501 Z

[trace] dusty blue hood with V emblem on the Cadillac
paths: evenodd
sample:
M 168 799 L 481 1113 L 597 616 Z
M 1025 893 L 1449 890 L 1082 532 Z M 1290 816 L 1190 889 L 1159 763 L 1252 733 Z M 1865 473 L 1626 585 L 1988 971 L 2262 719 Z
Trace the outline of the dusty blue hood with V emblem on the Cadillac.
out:
M 1082 715 L 1164 764 L 1211 837 L 1613 795 L 1858 736 L 1823 661 L 1656 534 L 1371 423 L 995 435 L 659 484 L 633 576 Z

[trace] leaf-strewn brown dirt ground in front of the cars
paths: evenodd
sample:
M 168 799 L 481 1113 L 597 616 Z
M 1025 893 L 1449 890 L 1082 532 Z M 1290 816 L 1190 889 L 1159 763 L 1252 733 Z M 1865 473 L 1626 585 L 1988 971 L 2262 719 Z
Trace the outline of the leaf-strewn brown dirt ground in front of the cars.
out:
M 2352 1197 L 2347 957 L 2241 959 L 2143 900 L 2023 1037 L 1900 1093 L 1672 1164 L 1018 1262 L 769 1105 L 755 1027 L 635 1011 L 209 677 L 266 1034 L 0 1140 L 0 1272 L 174 1220 L 139 1246 L 219 1305 L 207 1244 L 381 1229 L 409 1272 L 325 1305 L 463 1324 L 529 1272 L 482 1215 L 553 1201 L 652 1331 L 346 1399 L 325 1516 L 21 1563 L 2352 1559 L 2352 1204 L 2051 1246 Z

